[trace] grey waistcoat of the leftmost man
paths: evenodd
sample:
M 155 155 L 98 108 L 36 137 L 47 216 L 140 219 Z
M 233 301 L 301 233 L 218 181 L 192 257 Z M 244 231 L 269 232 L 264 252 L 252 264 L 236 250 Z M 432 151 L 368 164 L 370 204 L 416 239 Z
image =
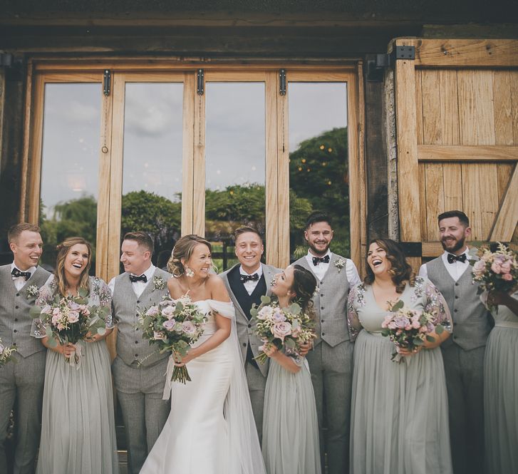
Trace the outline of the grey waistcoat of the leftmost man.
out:
M 11 264 L 0 267 L 0 338 L 4 346 L 16 345 L 22 357 L 46 351 L 41 341 L 31 336 L 29 310 L 35 298 L 29 298 L 26 292 L 31 285 L 36 285 L 38 289 L 43 287 L 50 276 L 45 269 L 37 267 L 24 287 L 16 290 L 11 277 Z

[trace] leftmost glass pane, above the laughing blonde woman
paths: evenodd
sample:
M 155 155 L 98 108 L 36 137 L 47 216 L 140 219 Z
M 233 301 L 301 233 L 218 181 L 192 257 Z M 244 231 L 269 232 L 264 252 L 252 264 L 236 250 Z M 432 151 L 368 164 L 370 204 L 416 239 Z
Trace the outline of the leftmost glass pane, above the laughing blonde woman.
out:
M 56 244 L 79 236 L 92 244 L 95 273 L 101 101 L 99 83 L 45 86 L 40 225 L 49 269 Z

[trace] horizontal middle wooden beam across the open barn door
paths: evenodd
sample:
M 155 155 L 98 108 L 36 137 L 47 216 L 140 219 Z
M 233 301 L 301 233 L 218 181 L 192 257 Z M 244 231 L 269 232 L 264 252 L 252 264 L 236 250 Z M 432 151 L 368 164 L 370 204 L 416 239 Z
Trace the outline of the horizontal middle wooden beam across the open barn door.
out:
M 517 146 L 418 145 L 419 161 L 516 161 Z

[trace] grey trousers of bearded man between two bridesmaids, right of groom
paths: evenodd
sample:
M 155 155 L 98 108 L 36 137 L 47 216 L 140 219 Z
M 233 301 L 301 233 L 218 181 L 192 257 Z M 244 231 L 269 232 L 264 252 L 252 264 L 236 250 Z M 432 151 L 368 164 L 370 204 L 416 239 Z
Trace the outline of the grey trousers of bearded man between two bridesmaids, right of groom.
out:
M 322 472 L 327 453 L 328 474 L 349 472 L 349 431 L 354 344 L 331 347 L 321 341 L 306 359 L 315 392 Z

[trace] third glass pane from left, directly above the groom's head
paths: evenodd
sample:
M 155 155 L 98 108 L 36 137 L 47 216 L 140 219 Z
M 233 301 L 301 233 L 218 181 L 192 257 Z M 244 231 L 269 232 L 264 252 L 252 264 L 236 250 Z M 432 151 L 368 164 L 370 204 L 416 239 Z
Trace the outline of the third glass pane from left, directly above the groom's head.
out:
M 205 237 L 219 271 L 237 262 L 232 232 L 265 233 L 264 83 L 207 83 Z

